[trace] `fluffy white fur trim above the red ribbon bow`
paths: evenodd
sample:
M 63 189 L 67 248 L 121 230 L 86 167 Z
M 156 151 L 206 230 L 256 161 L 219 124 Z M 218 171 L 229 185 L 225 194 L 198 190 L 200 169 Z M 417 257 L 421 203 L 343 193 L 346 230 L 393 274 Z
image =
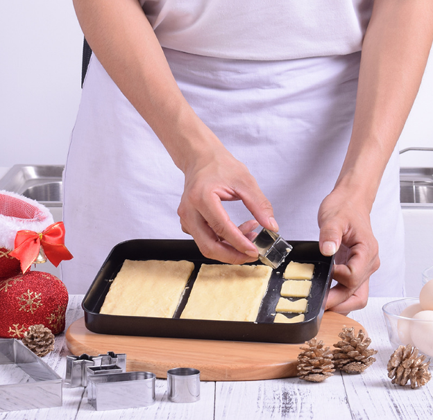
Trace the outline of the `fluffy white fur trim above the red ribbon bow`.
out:
M 15 236 L 17 236 L 17 231 L 19 230 L 33 230 L 40 233 L 49 227 L 49 225 L 53 224 L 53 215 L 50 213 L 49 209 L 40 204 L 40 202 L 10 191 L 0 190 L 0 194 L 9 195 L 10 197 L 27 202 L 28 204 L 37 207 L 41 213 L 38 218 L 39 220 L 12 218 L 0 213 L 0 248 L 6 248 L 7 250 L 12 251 L 14 249 Z

